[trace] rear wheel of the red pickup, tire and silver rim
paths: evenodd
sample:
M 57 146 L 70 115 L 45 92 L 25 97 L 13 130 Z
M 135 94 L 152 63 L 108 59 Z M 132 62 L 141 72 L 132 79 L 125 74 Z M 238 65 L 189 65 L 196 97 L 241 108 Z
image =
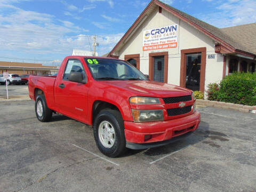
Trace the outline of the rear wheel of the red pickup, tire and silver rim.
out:
M 38 95 L 35 102 L 36 117 L 41 122 L 49 122 L 52 110 L 48 108 L 44 95 Z

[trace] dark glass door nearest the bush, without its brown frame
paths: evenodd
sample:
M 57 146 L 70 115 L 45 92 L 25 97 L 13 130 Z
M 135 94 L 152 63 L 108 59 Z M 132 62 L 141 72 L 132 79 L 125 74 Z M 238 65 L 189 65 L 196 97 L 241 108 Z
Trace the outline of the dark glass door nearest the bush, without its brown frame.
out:
M 199 91 L 201 75 L 201 53 L 186 54 L 186 88 Z

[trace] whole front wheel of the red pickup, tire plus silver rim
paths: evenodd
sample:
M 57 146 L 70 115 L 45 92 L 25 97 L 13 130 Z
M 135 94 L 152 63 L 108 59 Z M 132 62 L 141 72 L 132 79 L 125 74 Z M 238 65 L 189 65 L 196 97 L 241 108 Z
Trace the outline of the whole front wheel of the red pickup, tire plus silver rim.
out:
M 106 126 L 107 124 L 108 126 Z M 108 129 L 110 129 L 109 132 Z M 112 109 L 100 111 L 94 121 L 93 133 L 96 145 L 102 154 L 108 157 L 117 157 L 125 153 L 124 121 L 119 111 Z M 106 135 L 110 135 L 111 139 L 105 137 Z M 106 141 L 104 138 L 109 139 L 109 141 L 103 142 L 102 140 Z

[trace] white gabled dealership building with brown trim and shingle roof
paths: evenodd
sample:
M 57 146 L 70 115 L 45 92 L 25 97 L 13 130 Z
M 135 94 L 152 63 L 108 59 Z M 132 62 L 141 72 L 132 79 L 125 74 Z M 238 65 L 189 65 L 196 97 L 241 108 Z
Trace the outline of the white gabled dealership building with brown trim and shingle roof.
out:
M 154 81 L 205 92 L 235 71 L 255 73 L 256 23 L 217 28 L 152 0 L 108 57 Z

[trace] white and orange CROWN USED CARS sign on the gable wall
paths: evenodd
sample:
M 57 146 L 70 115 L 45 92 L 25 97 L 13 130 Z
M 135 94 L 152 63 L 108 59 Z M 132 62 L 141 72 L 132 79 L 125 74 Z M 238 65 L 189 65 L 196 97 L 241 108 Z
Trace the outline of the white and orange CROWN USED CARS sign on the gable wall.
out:
M 169 25 L 143 31 L 143 51 L 175 48 L 178 45 L 178 25 Z

